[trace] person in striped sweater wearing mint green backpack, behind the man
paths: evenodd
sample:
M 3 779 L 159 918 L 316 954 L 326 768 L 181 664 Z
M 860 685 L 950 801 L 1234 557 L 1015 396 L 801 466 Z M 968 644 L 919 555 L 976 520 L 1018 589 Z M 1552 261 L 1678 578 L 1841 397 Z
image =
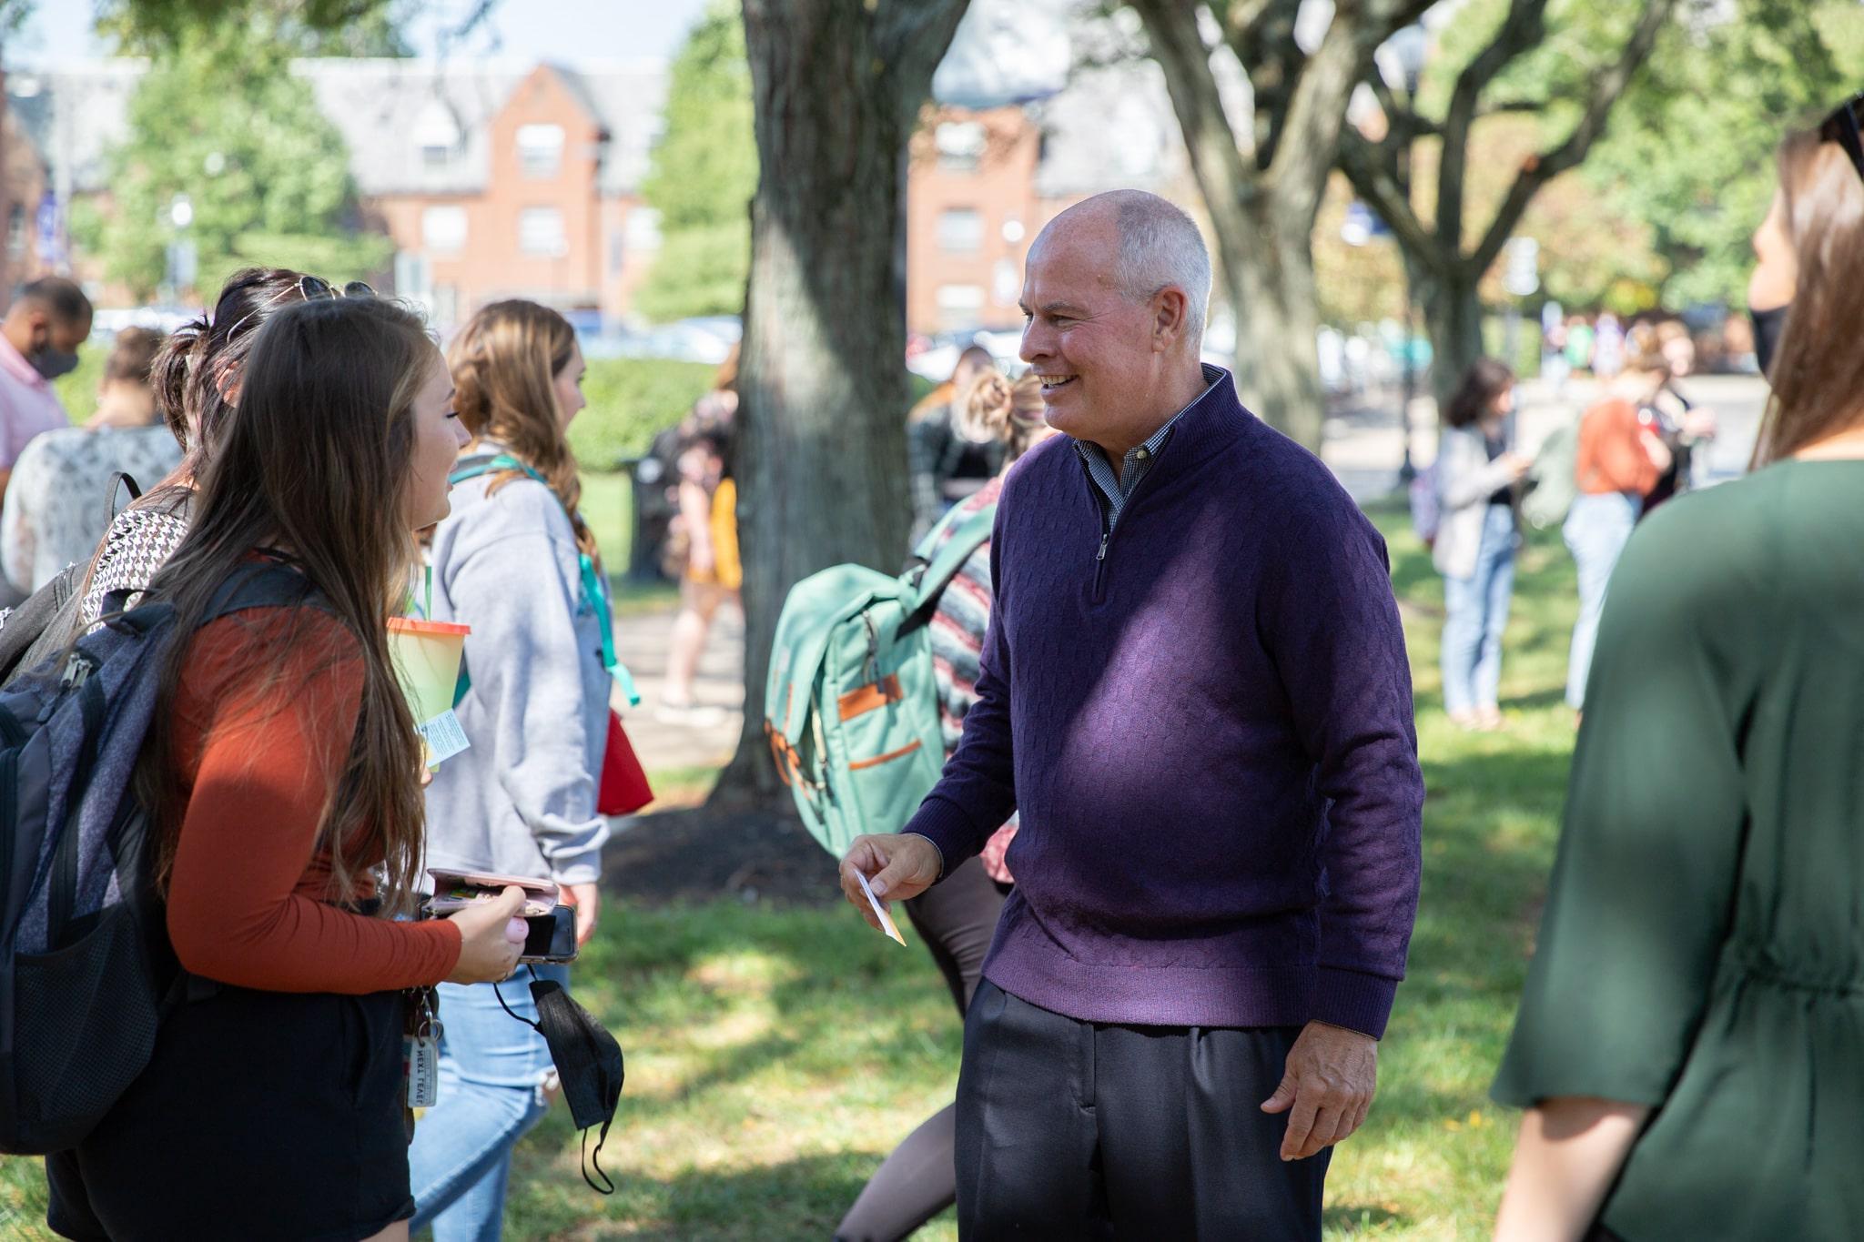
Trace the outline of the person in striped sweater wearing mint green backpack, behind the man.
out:
M 1001 372 L 986 372 L 971 384 L 969 400 L 958 412 L 960 430 L 973 439 L 1003 445 L 1003 471 L 975 495 L 962 501 L 960 518 L 945 529 L 945 538 L 971 514 L 997 503 L 1003 479 L 1029 449 L 1055 432 L 1042 404 L 1042 380 L 1031 371 L 1010 384 Z M 939 696 L 939 724 L 945 758 L 958 750 L 964 717 L 977 702 L 977 678 L 995 603 L 990 579 L 990 540 L 979 544 L 964 568 L 939 592 L 926 633 L 932 639 L 932 680 Z M 932 952 L 945 987 L 964 1019 L 971 994 L 984 974 L 984 953 L 997 931 L 997 916 L 1014 884 L 1005 851 L 1016 836 L 1016 817 L 984 845 L 984 853 L 966 860 L 941 884 L 906 901 L 906 918 Z M 947 1104 L 906 1136 L 880 1171 L 848 1208 L 837 1242 L 897 1242 L 949 1208 L 958 1199 L 953 1164 L 958 1106 Z

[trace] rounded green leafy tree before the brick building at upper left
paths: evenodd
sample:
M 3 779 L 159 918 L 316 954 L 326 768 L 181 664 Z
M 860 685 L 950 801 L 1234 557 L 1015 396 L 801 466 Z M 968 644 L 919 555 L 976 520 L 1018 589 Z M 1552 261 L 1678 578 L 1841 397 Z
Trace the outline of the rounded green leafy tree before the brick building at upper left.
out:
M 147 298 L 183 235 L 185 196 L 201 290 L 263 263 L 326 279 L 380 272 L 391 242 L 356 227 L 356 184 L 341 134 L 291 74 L 293 47 L 267 22 L 190 26 L 138 84 L 129 138 L 110 155 L 108 205 L 75 212 L 80 246 L 108 279 Z

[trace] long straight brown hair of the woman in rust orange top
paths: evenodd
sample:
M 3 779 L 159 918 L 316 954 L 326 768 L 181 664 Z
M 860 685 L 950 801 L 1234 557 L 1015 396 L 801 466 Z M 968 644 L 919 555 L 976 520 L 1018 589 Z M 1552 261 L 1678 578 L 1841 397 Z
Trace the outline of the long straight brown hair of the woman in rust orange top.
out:
M 283 307 L 259 330 L 240 380 L 239 417 L 224 428 L 199 480 L 194 521 L 149 585 L 192 633 L 214 592 L 254 551 L 283 549 L 324 596 L 341 635 L 309 609 L 281 629 L 246 629 L 235 655 L 239 695 L 289 711 L 298 687 L 281 668 L 321 644 L 313 665 L 358 659 L 362 711 L 341 778 L 317 830 L 332 896 L 358 894 L 358 860 L 384 858 L 384 912 L 414 888 L 425 825 L 414 717 L 388 654 L 388 618 L 404 600 L 414 560 L 406 490 L 414 397 L 442 365 L 421 320 L 378 298 L 326 298 Z M 352 646 L 354 644 L 354 646 Z M 162 670 L 157 719 L 175 709 L 190 641 Z M 140 790 L 160 825 L 166 886 L 185 810 L 166 728 L 151 730 Z

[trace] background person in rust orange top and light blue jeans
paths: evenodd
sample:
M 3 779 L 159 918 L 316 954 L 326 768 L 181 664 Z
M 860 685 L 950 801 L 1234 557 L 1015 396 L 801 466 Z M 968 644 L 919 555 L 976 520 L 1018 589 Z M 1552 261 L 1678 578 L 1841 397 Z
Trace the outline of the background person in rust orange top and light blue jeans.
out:
M 1579 620 L 1566 668 L 1566 704 L 1573 711 L 1586 706 L 1586 668 L 1592 667 L 1592 642 L 1612 566 L 1644 512 L 1644 497 L 1674 460 L 1670 447 L 1640 415 L 1670 382 L 1670 363 L 1657 346 L 1655 331 L 1637 333 L 1633 346 L 1624 369 L 1579 421 L 1573 462 L 1579 493 L 1560 529 L 1579 566 Z

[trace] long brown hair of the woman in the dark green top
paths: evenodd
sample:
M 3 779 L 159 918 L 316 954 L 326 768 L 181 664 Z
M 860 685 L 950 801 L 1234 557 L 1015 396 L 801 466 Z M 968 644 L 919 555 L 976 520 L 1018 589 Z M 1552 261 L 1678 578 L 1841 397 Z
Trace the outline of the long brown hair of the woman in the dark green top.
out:
M 1793 456 L 1864 415 L 1864 177 L 1843 147 L 1797 130 L 1780 143 L 1780 194 L 1799 281 L 1767 374 L 1754 466 Z

